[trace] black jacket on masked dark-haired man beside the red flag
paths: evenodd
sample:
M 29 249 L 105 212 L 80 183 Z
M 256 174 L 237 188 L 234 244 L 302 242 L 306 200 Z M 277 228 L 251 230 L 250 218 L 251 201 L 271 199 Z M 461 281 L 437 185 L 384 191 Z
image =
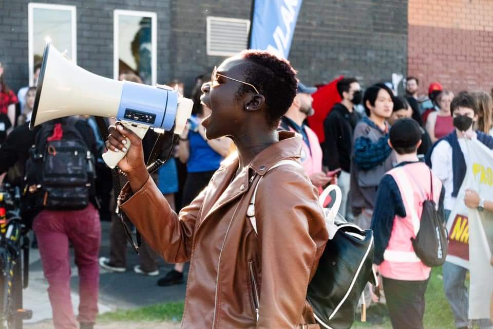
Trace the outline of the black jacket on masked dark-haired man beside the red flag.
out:
M 335 104 L 325 118 L 323 163 L 329 170 L 340 168 L 350 172 L 353 132 L 359 119 L 357 112 L 349 112 L 346 106 L 340 103 Z

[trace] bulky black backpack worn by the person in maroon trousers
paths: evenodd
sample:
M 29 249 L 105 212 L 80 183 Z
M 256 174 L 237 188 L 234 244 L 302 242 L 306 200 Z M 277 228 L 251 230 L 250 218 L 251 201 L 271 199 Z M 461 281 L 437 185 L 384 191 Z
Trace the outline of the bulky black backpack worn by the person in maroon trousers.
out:
M 43 124 L 37 132 L 26 161 L 25 210 L 77 210 L 89 204 L 96 178 L 94 157 L 76 122 L 61 123 L 60 140 L 47 141 L 54 123 Z

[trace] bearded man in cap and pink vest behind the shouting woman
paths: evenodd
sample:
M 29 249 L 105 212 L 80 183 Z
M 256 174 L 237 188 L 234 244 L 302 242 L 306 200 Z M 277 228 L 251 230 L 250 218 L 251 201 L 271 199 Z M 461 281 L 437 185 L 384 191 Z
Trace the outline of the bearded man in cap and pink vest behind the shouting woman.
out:
M 318 137 L 305 124 L 305 120 L 313 115 L 311 94 L 316 90 L 315 87 L 307 87 L 301 82 L 298 83 L 298 93 L 288 112 L 282 117 L 279 129 L 296 132 L 303 137 L 301 165 L 305 168 L 312 184 L 321 192 L 323 187 L 330 182 L 335 184 L 335 174 L 338 170 L 328 173 L 322 171 L 322 149 Z

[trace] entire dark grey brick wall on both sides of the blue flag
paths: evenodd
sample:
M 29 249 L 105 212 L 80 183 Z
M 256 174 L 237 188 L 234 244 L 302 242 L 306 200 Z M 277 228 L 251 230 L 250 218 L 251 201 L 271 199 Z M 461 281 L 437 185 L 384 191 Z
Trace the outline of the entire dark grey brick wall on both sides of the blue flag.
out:
M 244 0 L 40 0 L 77 6 L 78 65 L 113 76 L 113 10 L 157 12 L 158 83 L 179 79 L 190 92 L 196 76 L 222 57 L 206 54 L 206 16 L 250 19 Z M 0 62 L 12 89 L 27 85 L 27 0 L 0 0 Z M 407 1 L 304 0 L 289 60 L 306 84 L 344 74 L 365 85 L 407 71 Z

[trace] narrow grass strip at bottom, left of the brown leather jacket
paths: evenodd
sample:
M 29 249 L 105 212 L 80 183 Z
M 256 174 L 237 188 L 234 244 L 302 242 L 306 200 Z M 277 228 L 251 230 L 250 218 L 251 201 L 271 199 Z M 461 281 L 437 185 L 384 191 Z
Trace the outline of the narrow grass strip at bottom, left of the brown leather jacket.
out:
M 99 316 L 101 321 L 181 321 L 183 302 L 171 302 L 117 310 Z

